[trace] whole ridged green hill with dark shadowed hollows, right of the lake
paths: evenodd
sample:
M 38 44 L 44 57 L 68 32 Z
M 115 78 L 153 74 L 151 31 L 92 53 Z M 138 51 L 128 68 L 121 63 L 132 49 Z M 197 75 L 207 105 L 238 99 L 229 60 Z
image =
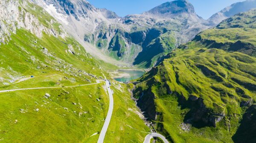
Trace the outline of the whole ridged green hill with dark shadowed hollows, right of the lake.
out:
M 180 45 L 139 79 L 138 106 L 175 143 L 254 143 L 256 10 Z

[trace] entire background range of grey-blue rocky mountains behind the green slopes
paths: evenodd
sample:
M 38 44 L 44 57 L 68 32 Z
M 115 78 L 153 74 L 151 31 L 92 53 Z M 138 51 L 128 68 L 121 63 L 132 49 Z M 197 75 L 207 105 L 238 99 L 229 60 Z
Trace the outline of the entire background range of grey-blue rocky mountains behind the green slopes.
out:
M 36 1 L 63 23 L 67 31 L 93 56 L 105 60 L 109 59 L 107 55 L 137 67 L 154 66 L 178 45 L 218 24 L 213 18 L 204 20 L 199 17 L 187 0 L 163 3 L 143 14 L 126 17 L 118 17 L 112 11 L 95 8 L 83 0 Z M 244 3 L 253 8 L 255 0 Z M 231 9 L 228 14 L 225 13 L 227 18 L 247 11 L 250 8 L 244 6 L 244 3 L 236 3 L 218 14 Z M 244 6 L 245 9 L 236 8 L 239 6 Z M 232 11 L 232 8 L 236 11 Z M 224 17 L 218 18 L 220 21 L 224 20 Z

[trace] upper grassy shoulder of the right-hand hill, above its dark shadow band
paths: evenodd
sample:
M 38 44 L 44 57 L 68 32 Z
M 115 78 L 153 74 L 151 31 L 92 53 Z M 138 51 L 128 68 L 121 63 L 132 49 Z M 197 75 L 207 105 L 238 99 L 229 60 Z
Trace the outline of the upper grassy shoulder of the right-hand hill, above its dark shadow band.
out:
M 207 48 L 237 51 L 256 57 L 256 9 L 224 20 L 216 28 L 198 34 L 194 41 Z

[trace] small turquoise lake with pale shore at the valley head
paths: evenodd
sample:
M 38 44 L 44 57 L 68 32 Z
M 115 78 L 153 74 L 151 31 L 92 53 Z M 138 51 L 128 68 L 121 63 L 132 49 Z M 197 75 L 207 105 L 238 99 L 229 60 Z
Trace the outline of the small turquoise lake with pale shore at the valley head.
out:
M 116 81 L 119 82 L 128 82 L 134 79 L 138 79 L 145 73 L 143 70 L 118 70 L 120 73 L 127 73 L 126 76 L 120 78 L 114 78 Z M 129 75 L 129 76 L 128 76 Z

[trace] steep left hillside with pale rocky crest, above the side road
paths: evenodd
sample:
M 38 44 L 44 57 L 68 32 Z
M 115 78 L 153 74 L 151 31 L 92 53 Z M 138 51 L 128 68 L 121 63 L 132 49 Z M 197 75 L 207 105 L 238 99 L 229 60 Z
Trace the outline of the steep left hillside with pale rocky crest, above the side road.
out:
M 101 72 L 99 62 L 41 7 L 17 0 L 1 2 L 0 6 L 5 13 L 0 20 L 2 85 L 44 70 L 59 71 L 84 81 L 96 80 L 94 74 Z

